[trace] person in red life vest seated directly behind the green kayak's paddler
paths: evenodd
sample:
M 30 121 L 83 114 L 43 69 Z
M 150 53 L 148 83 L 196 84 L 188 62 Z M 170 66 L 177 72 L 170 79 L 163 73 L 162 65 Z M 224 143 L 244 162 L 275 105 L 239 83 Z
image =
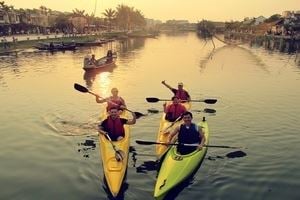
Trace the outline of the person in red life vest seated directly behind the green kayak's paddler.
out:
M 168 106 L 166 106 L 166 103 L 163 104 L 164 112 L 166 113 L 165 119 L 169 122 L 174 122 L 186 112 L 186 108 L 180 103 L 180 99 L 177 96 L 173 96 L 172 101 L 172 104 Z

